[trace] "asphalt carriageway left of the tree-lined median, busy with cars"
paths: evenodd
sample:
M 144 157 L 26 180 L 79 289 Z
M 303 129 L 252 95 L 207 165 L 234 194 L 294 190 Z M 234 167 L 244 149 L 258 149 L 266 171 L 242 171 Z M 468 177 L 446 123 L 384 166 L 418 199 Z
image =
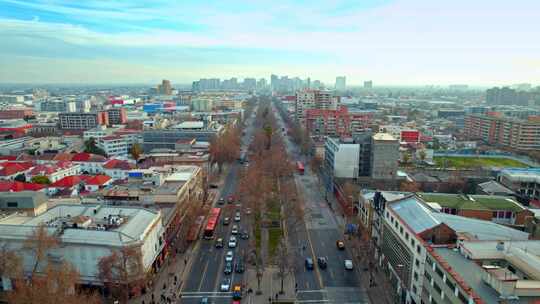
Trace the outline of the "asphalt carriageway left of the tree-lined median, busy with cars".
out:
M 256 113 L 256 111 L 253 111 Z M 251 136 L 254 132 L 253 121 L 255 114 L 246 120 L 246 135 L 242 138 L 242 149 L 247 149 Z M 238 186 L 239 172 L 242 170 L 242 165 L 235 162 L 231 165 L 230 170 L 224 180 L 221 194 L 219 197 L 225 198 L 230 195 L 236 194 Z M 233 225 L 238 225 L 239 230 L 244 229 L 244 225 L 247 225 L 247 217 L 242 212 L 242 218 L 240 223 L 233 221 L 233 217 L 236 210 L 240 210 L 241 207 L 233 204 L 218 205 L 217 199 L 214 202 L 214 206 L 221 207 L 222 213 L 220 215 L 220 221 L 216 232 L 214 233 L 214 240 L 200 240 L 199 249 L 194 251 L 194 257 L 192 257 L 192 266 L 190 273 L 186 277 L 186 281 L 182 285 L 182 297 L 179 303 L 200 303 L 201 299 L 208 297 L 212 303 L 231 303 L 231 292 L 220 292 L 220 285 L 224 278 L 231 278 L 232 284 L 242 284 L 244 281 L 244 273 L 239 274 L 233 271 L 230 275 L 223 273 L 225 267 L 225 254 L 227 251 L 232 250 L 234 252 L 234 261 L 237 257 L 247 251 L 249 240 L 242 240 L 237 236 L 237 247 L 229 249 L 227 243 L 229 237 L 232 235 L 231 230 Z M 243 210 L 243 209 L 242 209 Z M 222 219 L 227 216 L 231 218 L 231 223 L 227 226 L 222 224 Z M 247 228 L 247 227 L 246 227 Z M 250 235 L 251 237 L 251 235 Z M 215 240 L 217 238 L 223 238 L 224 248 L 215 248 Z

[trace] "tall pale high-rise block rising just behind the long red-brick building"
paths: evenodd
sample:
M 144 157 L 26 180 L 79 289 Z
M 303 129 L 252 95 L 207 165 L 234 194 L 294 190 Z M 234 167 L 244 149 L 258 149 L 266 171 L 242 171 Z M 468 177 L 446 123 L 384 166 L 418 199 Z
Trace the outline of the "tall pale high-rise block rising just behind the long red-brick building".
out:
M 295 117 L 304 124 L 306 111 L 309 109 L 337 110 L 339 97 L 334 96 L 333 91 L 310 90 L 296 92 Z

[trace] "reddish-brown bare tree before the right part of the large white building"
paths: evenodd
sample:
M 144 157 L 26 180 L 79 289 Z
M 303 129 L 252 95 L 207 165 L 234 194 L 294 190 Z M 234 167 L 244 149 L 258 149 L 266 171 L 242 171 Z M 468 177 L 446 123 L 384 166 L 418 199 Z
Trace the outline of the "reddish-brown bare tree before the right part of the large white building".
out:
M 130 289 L 141 284 L 144 270 L 140 247 L 113 250 L 98 262 L 99 278 L 105 286 L 120 291 L 122 303 L 127 303 Z

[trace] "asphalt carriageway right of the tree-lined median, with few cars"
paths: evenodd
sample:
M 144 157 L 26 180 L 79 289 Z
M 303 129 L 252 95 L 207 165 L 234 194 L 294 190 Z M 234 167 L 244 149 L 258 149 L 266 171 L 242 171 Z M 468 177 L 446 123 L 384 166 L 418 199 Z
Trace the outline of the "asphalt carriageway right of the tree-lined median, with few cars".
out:
M 278 125 L 286 128 L 275 107 L 274 110 Z M 285 143 L 293 161 L 305 162 L 299 148 L 288 136 L 285 136 Z M 351 259 L 350 254 L 336 247 L 336 241 L 344 237 L 343 228 L 328 207 L 317 177 L 309 170 L 308 164 L 305 168 L 305 175 L 295 175 L 297 188 L 304 195 L 305 225 L 288 223 L 289 245 L 294 249 L 297 263 L 297 303 L 368 303 L 357 272 L 345 269 L 344 261 Z M 326 257 L 328 266 L 320 269 L 315 265 L 313 270 L 307 270 L 304 266 L 306 257 L 311 257 L 315 264 L 317 257 Z

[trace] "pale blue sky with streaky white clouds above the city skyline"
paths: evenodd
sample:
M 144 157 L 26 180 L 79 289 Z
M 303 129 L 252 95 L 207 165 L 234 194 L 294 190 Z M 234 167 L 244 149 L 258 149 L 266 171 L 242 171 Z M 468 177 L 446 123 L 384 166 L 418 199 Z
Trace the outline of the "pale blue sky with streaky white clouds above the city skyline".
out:
M 538 0 L 0 0 L 0 82 L 540 85 L 538 37 Z

